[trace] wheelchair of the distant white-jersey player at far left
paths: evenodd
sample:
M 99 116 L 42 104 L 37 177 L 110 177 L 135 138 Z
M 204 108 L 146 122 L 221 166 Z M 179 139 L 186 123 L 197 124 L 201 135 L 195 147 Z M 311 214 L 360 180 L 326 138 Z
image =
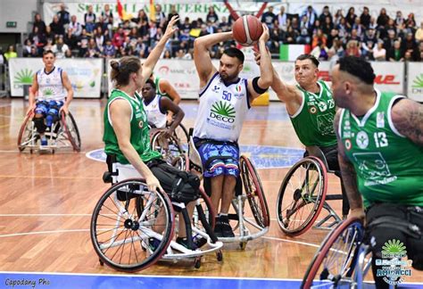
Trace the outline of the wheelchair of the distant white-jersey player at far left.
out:
M 46 130 L 45 135 L 49 145 L 41 146 L 39 144 L 40 136 L 32 119 L 34 111 L 30 111 L 21 125 L 18 136 L 18 148 L 22 152 L 29 148 L 29 152 L 34 150 L 50 150 L 54 153 L 55 149 L 71 148 L 75 152 L 80 152 L 81 140 L 77 123 L 69 111 L 68 114 L 62 111 L 60 119 L 55 121 L 53 126 Z

